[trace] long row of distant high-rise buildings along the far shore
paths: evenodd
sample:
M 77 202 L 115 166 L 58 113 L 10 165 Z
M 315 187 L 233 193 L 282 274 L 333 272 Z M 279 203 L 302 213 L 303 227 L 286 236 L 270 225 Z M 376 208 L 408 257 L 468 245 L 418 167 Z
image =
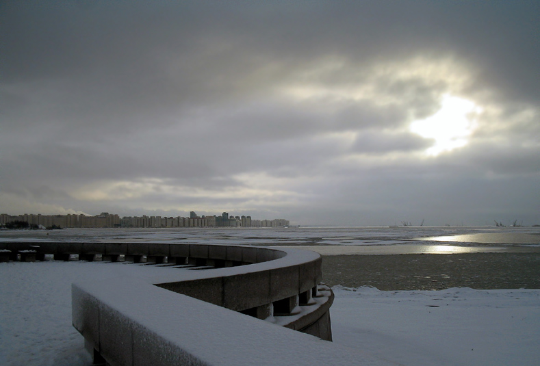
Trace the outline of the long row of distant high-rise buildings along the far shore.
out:
M 285 219 L 253 220 L 251 216 L 233 216 L 224 212 L 220 216 L 198 216 L 194 211 L 190 212 L 189 218 L 162 217 L 162 216 L 124 216 L 120 218 L 114 213 L 103 212 L 100 215 L 41 215 L 25 213 L 24 215 L 0 214 L 0 224 L 22 221 L 32 226 L 60 226 L 62 228 L 112 228 L 112 227 L 137 227 L 137 228 L 174 228 L 174 227 L 278 227 L 288 226 Z

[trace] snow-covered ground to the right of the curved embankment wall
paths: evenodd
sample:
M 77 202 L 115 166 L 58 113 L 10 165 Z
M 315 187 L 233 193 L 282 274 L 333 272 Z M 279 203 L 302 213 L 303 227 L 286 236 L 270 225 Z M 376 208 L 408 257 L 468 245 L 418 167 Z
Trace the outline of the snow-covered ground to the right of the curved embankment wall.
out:
M 335 343 L 402 365 L 538 365 L 540 290 L 333 290 Z

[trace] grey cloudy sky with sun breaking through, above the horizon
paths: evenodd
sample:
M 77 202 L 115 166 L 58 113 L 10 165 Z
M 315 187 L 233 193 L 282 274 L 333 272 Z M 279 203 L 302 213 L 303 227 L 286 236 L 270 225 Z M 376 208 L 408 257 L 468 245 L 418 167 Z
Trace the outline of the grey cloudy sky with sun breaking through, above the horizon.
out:
M 540 224 L 538 1 L 3 1 L 0 211 Z

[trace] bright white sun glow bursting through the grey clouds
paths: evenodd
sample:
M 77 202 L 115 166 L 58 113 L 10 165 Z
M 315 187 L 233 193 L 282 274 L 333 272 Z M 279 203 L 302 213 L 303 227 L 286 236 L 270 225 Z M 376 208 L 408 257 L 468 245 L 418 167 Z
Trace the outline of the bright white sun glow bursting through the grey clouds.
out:
M 441 109 L 433 116 L 411 123 L 410 129 L 423 138 L 435 140 L 426 150 L 427 155 L 436 156 L 445 151 L 465 146 L 476 129 L 476 120 L 482 108 L 472 101 L 445 95 Z

